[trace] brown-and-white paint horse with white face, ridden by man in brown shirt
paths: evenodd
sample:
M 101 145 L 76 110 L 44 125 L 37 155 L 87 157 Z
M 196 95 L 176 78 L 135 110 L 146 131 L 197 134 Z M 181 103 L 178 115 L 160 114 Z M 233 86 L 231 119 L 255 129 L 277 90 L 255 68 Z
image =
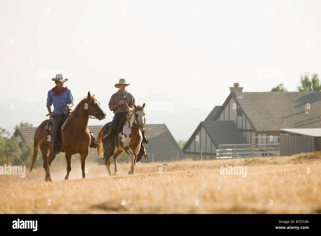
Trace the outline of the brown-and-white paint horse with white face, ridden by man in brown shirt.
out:
M 131 170 L 128 172 L 129 174 L 134 174 L 137 155 L 139 155 L 139 159 L 142 155 L 145 156 L 146 159 L 146 152 L 145 149 L 141 150 L 141 143 L 143 140 L 142 130 L 145 128 L 145 112 L 144 112 L 145 103 L 143 106 L 136 106 L 134 104 L 134 110 L 132 113 L 127 117 L 127 121 L 125 122 L 124 126 L 122 127 L 122 132 L 117 134 L 117 143 L 115 143 L 116 152 L 114 154 L 110 154 L 105 159 L 105 164 L 108 170 L 109 176 L 111 175 L 110 172 L 110 161 L 109 158 L 113 155 L 115 169 L 113 175 L 117 175 L 117 158 L 120 156 L 124 151 L 129 155 L 131 164 Z M 94 150 L 97 151 L 97 154 L 100 157 L 103 157 L 103 153 L 101 152 L 101 145 L 103 145 L 104 150 L 108 143 L 102 143 L 103 139 L 103 127 L 100 128 L 99 133 L 97 135 L 97 142 L 99 142 L 99 146 Z M 140 152 L 141 150 L 141 152 Z

